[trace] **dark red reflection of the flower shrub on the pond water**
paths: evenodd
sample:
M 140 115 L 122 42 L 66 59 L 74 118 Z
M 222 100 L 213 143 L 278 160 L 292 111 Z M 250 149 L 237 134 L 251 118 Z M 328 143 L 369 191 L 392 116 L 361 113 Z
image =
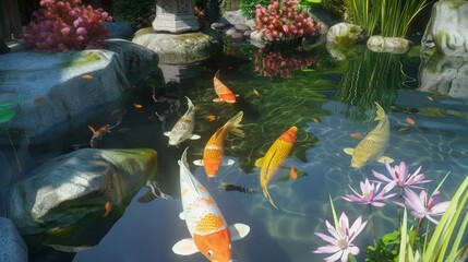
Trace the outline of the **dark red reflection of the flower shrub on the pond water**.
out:
M 316 64 L 315 59 L 308 56 L 284 56 L 278 50 L 264 52 L 263 49 L 254 55 L 255 72 L 268 78 L 291 78 L 295 70 Z

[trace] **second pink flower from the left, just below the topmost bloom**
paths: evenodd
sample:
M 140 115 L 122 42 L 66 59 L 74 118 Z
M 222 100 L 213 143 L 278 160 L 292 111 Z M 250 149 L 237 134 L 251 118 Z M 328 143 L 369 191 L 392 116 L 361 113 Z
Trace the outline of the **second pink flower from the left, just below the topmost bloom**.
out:
M 349 202 L 358 202 L 360 204 L 371 204 L 373 206 L 384 206 L 385 204 L 381 201 L 389 199 L 394 196 L 396 193 L 391 193 L 385 195 L 389 190 L 392 190 L 395 184 L 387 184 L 382 189 L 381 192 L 379 192 L 379 189 L 381 187 L 381 183 L 377 182 L 371 183 L 369 179 L 365 178 L 364 182 L 360 182 L 361 186 L 361 194 L 356 192 L 351 187 L 349 187 L 355 194 L 346 194 L 345 196 L 341 196 L 344 200 Z

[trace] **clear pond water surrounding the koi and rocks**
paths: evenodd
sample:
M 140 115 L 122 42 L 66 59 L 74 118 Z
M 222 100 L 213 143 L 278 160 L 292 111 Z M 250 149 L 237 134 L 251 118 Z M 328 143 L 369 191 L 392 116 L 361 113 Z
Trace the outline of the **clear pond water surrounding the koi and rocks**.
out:
M 429 187 L 431 192 L 451 172 L 441 188 L 442 198 L 448 200 L 468 174 L 468 105 L 461 98 L 420 91 L 420 63 L 417 48 L 405 55 L 357 49 L 349 59 L 339 61 L 324 46 L 300 52 L 289 48 L 285 53 L 241 45 L 226 47 L 224 55 L 203 64 L 163 66 L 167 79 L 167 72 L 182 72 L 181 78 L 172 78 L 179 84 L 164 85 L 147 78 L 135 92 L 91 112 L 91 118 L 98 126 L 109 121 L 110 111 L 125 107 L 122 132 L 107 134 L 97 147 L 156 150 L 158 175 L 154 182 L 172 199 L 139 201 L 148 190 L 142 188 L 97 246 L 68 260 L 206 261 L 200 253 L 180 257 L 171 250 L 177 241 L 190 236 L 185 223 L 179 219 L 182 204 L 178 159 L 185 147 L 189 163 L 201 158 L 211 135 L 240 110 L 244 112 L 241 123 L 245 136 L 228 134 L 225 141 L 225 157 L 235 164 L 223 166 L 218 177 L 212 179 L 206 179 L 203 167 L 191 165 L 228 224 L 243 223 L 251 228 L 244 239 L 232 243 L 236 260 L 322 261 L 324 255 L 312 252 L 324 246 L 314 233 L 326 233 L 325 219 L 333 221 L 329 196 L 338 215 L 346 212 L 351 222 L 359 215 L 369 218 L 367 205 L 346 202 L 341 195 L 351 193 L 349 186 L 359 189 L 361 180 L 372 177 L 371 170 L 387 174 L 385 166 L 370 162 L 361 169 L 351 168 L 351 157 L 343 150 L 355 147 L 360 136 L 375 127 L 374 102 L 389 118 L 391 143 L 385 155 L 395 159 L 394 164 L 406 162 L 411 172 L 422 166 L 422 172 L 434 181 Z M 213 102 L 217 97 L 213 76 L 218 69 L 219 79 L 239 94 L 237 104 Z M 201 139 L 168 146 L 163 133 L 185 112 L 184 96 L 196 106 L 194 133 Z M 254 163 L 291 126 L 298 128 L 293 152 L 269 186 L 276 210 L 262 193 L 260 168 Z M 37 154 L 51 157 L 88 141 L 86 124 L 74 128 L 81 131 L 60 138 L 61 146 L 43 145 L 48 152 L 36 150 Z M 297 179 L 290 178 L 290 166 L 298 170 Z M 387 202 L 385 207 L 374 209 L 374 221 L 377 236 L 392 231 L 398 223 L 396 206 Z M 372 243 L 369 226 L 356 243 L 361 254 Z M 41 253 L 35 259 L 46 261 L 45 257 Z

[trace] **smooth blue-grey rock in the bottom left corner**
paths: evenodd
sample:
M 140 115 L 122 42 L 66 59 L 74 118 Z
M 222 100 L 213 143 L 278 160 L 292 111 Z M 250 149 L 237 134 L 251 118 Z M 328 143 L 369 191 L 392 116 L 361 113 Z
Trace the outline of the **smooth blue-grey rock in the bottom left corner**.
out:
M 0 216 L 0 261 L 27 262 L 27 247 L 14 224 Z

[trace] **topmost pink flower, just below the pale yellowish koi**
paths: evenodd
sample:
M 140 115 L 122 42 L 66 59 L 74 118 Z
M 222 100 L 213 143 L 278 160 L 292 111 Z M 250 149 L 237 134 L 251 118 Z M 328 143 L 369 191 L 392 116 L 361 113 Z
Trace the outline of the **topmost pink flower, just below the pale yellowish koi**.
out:
M 374 177 L 379 178 L 381 181 L 387 182 L 389 184 L 396 184 L 400 188 L 417 188 L 422 189 L 421 187 L 418 187 L 417 184 L 427 183 L 431 180 L 424 180 L 424 174 L 419 174 L 421 170 L 421 166 L 418 167 L 418 169 L 409 175 L 408 166 L 405 164 L 405 162 L 401 162 L 399 165 L 395 165 L 395 167 L 391 167 L 388 163 L 385 163 L 385 167 L 391 175 L 391 178 L 372 170 L 372 174 Z

